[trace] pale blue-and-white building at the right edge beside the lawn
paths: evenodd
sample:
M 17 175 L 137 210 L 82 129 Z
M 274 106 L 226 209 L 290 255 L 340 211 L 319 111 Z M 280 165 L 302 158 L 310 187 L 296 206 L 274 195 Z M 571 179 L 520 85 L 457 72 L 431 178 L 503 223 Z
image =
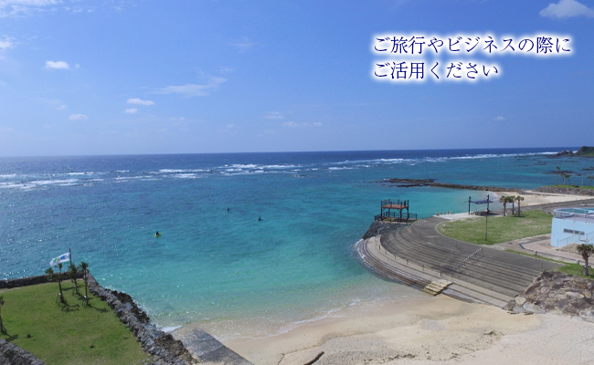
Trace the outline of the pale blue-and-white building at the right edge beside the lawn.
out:
M 570 244 L 594 242 L 594 209 L 562 208 L 553 212 L 551 245 L 562 247 Z

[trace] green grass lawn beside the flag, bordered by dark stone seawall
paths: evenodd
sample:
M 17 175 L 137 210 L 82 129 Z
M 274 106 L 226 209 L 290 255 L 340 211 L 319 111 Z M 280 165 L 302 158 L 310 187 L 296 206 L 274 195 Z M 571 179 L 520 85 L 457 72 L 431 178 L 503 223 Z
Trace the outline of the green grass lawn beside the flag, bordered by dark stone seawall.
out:
M 79 296 L 72 295 L 72 283 L 65 281 L 62 288 L 66 305 L 56 303 L 58 283 L 0 290 L 7 329 L 0 339 L 27 349 L 48 365 L 125 365 L 149 359 L 106 302 L 90 295 L 90 307 L 83 306 Z

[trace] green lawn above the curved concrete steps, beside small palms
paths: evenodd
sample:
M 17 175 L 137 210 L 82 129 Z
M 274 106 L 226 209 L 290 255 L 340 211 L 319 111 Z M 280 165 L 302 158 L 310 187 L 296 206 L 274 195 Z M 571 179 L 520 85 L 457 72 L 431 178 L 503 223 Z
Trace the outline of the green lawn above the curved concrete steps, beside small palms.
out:
M 440 233 L 477 245 L 493 245 L 518 238 L 551 233 L 552 215 L 525 211 L 521 217 L 491 216 L 488 218 L 487 240 L 484 240 L 485 218 L 471 218 L 440 224 Z

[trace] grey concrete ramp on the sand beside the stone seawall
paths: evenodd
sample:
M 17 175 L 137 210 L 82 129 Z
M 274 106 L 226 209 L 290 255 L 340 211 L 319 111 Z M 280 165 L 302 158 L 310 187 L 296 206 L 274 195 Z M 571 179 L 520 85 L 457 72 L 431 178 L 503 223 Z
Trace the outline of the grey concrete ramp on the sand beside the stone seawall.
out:
M 195 329 L 183 340 L 186 349 L 203 362 L 225 365 L 253 365 L 202 329 Z

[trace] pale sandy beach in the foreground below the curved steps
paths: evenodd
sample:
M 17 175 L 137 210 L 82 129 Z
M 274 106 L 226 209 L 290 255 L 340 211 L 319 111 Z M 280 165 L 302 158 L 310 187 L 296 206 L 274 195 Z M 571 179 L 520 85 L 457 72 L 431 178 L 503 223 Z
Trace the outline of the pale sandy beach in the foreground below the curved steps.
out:
M 542 365 L 592 363 L 593 339 L 594 323 L 580 319 L 512 315 L 493 306 L 427 296 L 226 345 L 254 364 L 304 364 L 324 351 L 316 364 Z

